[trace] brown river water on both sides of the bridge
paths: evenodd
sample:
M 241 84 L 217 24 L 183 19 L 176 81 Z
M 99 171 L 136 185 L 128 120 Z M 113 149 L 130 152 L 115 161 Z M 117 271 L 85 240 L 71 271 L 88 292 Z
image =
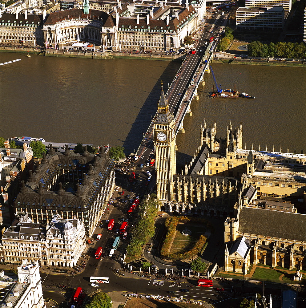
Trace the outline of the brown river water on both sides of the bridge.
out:
M 149 60 L 93 60 L 1 53 L 0 136 L 42 137 L 47 142 L 121 145 L 138 148 L 155 114 L 160 80 L 167 89 L 180 63 Z M 246 148 L 306 151 L 305 70 L 303 68 L 212 64 L 218 85 L 236 88 L 256 99 L 211 99 L 211 74 L 191 103 L 185 134 L 178 134 L 178 160 L 193 155 L 200 126 L 243 125 Z

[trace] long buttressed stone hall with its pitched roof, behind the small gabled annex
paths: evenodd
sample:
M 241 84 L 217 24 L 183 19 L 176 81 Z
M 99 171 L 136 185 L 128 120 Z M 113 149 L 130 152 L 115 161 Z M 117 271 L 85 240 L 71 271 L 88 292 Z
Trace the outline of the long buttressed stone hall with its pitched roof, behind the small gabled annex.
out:
M 240 207 L 236 219 L 228 217 L 225 221 L 224 241 L 231 247 L 237 239 L 245 237 L 253 264 L 305 270 L 305 223 L 305 214 Z M 240 259 L 247 262 L 244 257 Z M 233 271 L 236 261 L 226 247 L 225 270 Z

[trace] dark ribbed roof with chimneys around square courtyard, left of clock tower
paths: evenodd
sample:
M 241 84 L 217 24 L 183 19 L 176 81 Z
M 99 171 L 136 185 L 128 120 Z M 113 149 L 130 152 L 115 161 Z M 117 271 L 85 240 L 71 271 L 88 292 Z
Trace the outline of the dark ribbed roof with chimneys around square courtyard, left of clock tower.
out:
M 98 155 L 71 152 L 66 148 L 64 153 L 52 151 L 42 159 L 26 184 L 21 183 L 21 189 L 14 201 L 17 208 L 43 208 L 58 210 L 87 211 L 91 207 L 95 196 L 99 193 L 103 183 L 114 166 L 114 162 L 101 150 Z M 83 179 L 66 183 L 66 191 L 62 185 L 54 186 L 57 182 L 67 182 L 62 177 L 62 169 L 78 170 L 83 173 Z M 52 187 L 52 190 L 45 190 Z

